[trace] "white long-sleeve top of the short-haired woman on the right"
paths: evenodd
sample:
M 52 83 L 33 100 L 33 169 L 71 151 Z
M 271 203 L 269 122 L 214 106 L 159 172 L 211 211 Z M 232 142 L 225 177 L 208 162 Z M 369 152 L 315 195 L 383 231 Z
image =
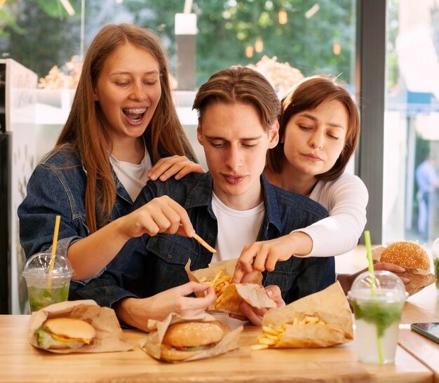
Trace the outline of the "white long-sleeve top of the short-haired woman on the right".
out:
M 352 250 L 366 225 L 369 194 L 363 181 L 343 173 L 335 181 L 318 181 L 309 198 L 324 206 L 330 216 L 295 230 L 313 240 L 311 253 L 306 257 L 330 257 Z

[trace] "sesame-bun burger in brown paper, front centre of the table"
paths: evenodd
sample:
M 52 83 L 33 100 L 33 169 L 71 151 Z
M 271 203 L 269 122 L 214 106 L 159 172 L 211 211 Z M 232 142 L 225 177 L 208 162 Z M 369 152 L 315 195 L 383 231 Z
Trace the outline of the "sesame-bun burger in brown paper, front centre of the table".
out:
M 149 321 L 148 337 L 140 340 L 140 348 L 161 361 L 182 362 L 211 358 L 238 348 L 239 333 L 227 323 L 204 314 L 183 318 L 170 314 L 164 321 Z

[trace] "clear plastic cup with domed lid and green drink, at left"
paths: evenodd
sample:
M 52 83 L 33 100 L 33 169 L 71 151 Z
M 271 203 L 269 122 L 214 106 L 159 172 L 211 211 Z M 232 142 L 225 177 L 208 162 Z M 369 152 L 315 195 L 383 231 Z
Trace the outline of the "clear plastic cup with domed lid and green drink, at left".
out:
M 55 256 L 49 272 L 50 253 L 36 253 L 27 260 L 22 271 L 26 279 L 30 311 L 38 311 L 49 304 L 64 302 L 69 297 L 70 280 L 74 274 L 66 257 Z

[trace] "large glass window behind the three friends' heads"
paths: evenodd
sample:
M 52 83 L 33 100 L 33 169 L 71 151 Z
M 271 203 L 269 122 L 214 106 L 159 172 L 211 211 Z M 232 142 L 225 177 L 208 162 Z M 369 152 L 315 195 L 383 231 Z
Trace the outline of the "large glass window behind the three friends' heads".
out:
M 32 69 L 40 78 L 54 65 L 59 68 L 58 74 L 72 74 L 67 66 L 83 55 L 101 27 L 133 22 L 161 37 L 178 83 L 175 14 L 182 13 L 186 5 L 196 14 L 198 29 L 195 86 L 189 91 L 180 91 L 177 86 L 175 100 L 203 165 L 203 150 L 196 142 L 197 118 L 191 105 L 196 88 L 219 69 L 255 65 L 266 76 L 276 69 L 271 80 L 280 97 L 299 76 L 311 74 L 339 76 L 354 94 L 355 0 L 8 0 L 0 10 L 8 15 L 0 21 L 0 53 Z M 187 72 L 186 68 L 185 76 Z M 180 84 L 184 80 L 180 79 Z M 69 111 L 71 95 L 55 93 L 39 91 L 37 116 L 41 119 L 37 128 L 41 145 L 37 147 L 41 153 L 37 157 L 53 146 Z M 349 171 L 353 172 L 353 165 Z

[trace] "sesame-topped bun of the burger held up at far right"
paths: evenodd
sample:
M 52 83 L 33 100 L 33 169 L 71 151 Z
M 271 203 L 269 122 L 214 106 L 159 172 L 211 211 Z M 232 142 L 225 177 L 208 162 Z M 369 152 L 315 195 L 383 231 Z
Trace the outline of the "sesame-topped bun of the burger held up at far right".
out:
M 391 243 L 381 253 L 381 262 L 399 264 L 430 271 L 430 258 L 426 251 L 414 242 L 400 241 Z

